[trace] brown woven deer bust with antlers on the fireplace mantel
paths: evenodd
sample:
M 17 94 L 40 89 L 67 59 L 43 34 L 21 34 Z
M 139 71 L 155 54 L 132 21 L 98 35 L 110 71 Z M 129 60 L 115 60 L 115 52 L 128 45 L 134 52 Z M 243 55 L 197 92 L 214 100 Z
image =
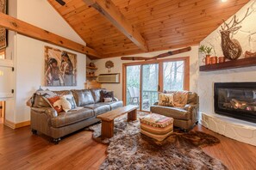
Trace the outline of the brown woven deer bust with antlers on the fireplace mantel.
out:
M 240 21 L 236 18 L 236 15 L 233 16 L 229 23 L 224 21 L 224 26 L 222 26 L 222 30 L 220 31 L 222 35 L 222 52 L 223 55 L 230 60 L 240 58 L 242 52 L 239 41 L 237 39 L 231 39 L 230 33 L 238 31 L 241 28 L 241 26 L 238 25 L 244 21 L 248 15 L 250 15 L 249 9 L 247 9 L 247 14 Z

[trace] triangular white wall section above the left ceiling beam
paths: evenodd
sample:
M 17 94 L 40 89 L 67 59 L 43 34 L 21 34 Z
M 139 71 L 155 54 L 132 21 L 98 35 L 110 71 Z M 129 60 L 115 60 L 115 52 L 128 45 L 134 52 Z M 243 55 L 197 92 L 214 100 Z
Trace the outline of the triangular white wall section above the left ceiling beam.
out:
M 77 33 L 47 0 L 18 0 L 17 18 L 85 45 Z

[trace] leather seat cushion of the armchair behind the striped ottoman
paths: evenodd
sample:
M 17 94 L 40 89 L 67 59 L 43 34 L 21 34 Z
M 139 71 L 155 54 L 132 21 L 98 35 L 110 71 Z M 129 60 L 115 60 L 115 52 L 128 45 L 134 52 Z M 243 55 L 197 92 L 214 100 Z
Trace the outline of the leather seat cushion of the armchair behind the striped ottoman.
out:
M 186 111 L 178 107 L 151 106 L 150 112 L 159 113 L 174 119 L 178 118 L 178 119 L 189 120 L 191 118 L 191 114 L 189 111 Z

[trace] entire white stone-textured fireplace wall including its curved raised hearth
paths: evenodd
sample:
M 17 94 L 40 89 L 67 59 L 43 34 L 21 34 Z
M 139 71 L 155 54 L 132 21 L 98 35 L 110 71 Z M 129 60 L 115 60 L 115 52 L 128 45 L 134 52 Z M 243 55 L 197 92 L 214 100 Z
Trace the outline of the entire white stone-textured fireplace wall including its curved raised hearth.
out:
M 246 51 L 256 52 L 256 0 L 249 1 L 249 3 L 236 13 L 236 16 L 238 19 L 243 18 L 248 8 L 251 14 L 240 23 L 240 30 L 231 36 L 232 39 L 238 39 L 240 42 L 243 51 L 240 58 L 244 58 L 244 52 Z M 218 57 L 223 56 L 220 30 L 221 27 L 218 27 L 200 43 L 200 45 L 213 46 L 215 56 Z M 203 56 L 199 55 L 199 65 L 203 65 L 202 60 Z M 214 111 L 213 93 L 215 82 L 256 82 L 255 75 L 256 66 L 232 70 L 199 72 L 197 93 L 200 96 L 200 124 L 223 136 L 256 146 L 256 124 L 216 114 Z

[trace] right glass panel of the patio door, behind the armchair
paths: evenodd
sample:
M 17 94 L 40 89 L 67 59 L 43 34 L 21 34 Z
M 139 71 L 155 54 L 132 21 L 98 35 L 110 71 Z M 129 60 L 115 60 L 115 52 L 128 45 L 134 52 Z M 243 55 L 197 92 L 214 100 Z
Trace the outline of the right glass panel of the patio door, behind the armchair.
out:
M 163 86 L 165 91 L 184 89 L 184 61 L 164 62 Z

